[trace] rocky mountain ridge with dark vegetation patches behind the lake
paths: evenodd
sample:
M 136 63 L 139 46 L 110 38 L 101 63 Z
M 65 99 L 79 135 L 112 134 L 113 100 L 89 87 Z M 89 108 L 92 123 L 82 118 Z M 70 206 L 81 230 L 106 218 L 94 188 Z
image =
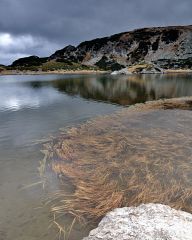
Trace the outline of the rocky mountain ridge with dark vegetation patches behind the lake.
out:
M 12 66 L 23 60 L 15 61 Z M 36 57 L 36 61 L 42 64 L 40 58 Z M 192 25 L 143 28 L 97 38 L 77 47 L 69 45 L 43 58 L 43 62 L 96 66 L 105 70 L 119 70 L 144 62 L 164 69 L 189 69 L 192 68 Z

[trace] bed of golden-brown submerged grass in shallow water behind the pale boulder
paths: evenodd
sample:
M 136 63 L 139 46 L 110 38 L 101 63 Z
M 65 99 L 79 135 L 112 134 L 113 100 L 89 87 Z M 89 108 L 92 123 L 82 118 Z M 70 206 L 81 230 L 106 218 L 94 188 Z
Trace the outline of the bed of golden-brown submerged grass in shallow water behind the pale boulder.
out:
M 141 203 L 192 212 L 192 114 L 161 110 L 189 109 L 191 100 L 136 105 L 46 144 L 61 183 L 54 215 L 97 223 L 114 208 Z

